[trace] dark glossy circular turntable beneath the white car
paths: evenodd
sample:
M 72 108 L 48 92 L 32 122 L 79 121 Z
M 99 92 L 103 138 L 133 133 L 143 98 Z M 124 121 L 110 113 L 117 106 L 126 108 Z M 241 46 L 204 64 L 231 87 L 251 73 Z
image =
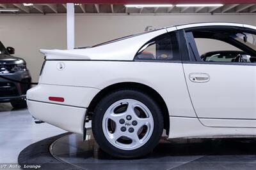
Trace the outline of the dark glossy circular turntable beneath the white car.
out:
M 256 139 L 173 139 L 163 137 L 141 159 L 116 159 L 100 150 L 88 129 L 86 141 L 66 133 L 25 148 L 19 164 L 40 169 L 255 169 Z

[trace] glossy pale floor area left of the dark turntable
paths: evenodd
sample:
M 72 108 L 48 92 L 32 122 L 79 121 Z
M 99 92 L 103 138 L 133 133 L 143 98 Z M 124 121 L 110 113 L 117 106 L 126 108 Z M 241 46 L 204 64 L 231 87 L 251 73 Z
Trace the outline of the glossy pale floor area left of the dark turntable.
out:
M 49 124 L 35 124 L 27 109 L 13 110 L 9 103 L 0 103 L 0 162 L 17 163 L 26 146 L 63 132 Z

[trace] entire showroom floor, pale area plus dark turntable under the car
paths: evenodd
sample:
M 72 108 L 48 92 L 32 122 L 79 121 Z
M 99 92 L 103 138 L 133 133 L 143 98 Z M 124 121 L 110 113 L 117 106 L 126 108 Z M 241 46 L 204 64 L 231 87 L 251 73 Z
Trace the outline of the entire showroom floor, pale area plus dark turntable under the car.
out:
M 17 163 L 19 157 L 25 163 L 44 163 L 50 157 L 53 160 L 48 162 L 68 165 L 61 169 L 255 169 L 256 165 L 255 138 L 162 138 L 146 157 L 122 160 L 102 152 L 90 129 L 86 142 L 81 135 L 65 132 L 49 124 L 35 124 L 27 109 L 13 110 L 10 104 L 0 104 L 0 162 Z M 49 156 L 42 156 L 44 152 Z

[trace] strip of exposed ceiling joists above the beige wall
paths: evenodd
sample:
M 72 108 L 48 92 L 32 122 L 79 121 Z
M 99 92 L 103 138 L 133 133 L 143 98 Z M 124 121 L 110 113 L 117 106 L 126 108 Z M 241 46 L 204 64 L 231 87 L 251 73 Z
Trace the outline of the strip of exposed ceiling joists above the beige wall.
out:
M 0 1 L 1 2 L 1 1 Z M 22 3 L 2 3 L 1 9 L 19 9 L 17 12 L 0 13 L 66 13 L 66 4 L 61 3 L 36 3 L 31 6 L 24 6 Z M 214 7 L 159 7 L 159 8 L 126 8 L 125 4 L 86 4 L 77 3 L 75 5 L 75 13 L 93 13 L 93 14 L 176 14 L 176 13 L 256 13 L 255 3 L 236 3 L 224 4 L 223 6 Z

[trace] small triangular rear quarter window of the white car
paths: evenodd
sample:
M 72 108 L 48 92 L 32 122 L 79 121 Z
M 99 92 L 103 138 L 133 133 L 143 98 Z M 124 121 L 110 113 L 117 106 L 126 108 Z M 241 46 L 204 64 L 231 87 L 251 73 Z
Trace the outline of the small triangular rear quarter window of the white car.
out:
M 143 45 L 136 53 L 136 60 L 180 60 L 175 32 L 157 36 Z

